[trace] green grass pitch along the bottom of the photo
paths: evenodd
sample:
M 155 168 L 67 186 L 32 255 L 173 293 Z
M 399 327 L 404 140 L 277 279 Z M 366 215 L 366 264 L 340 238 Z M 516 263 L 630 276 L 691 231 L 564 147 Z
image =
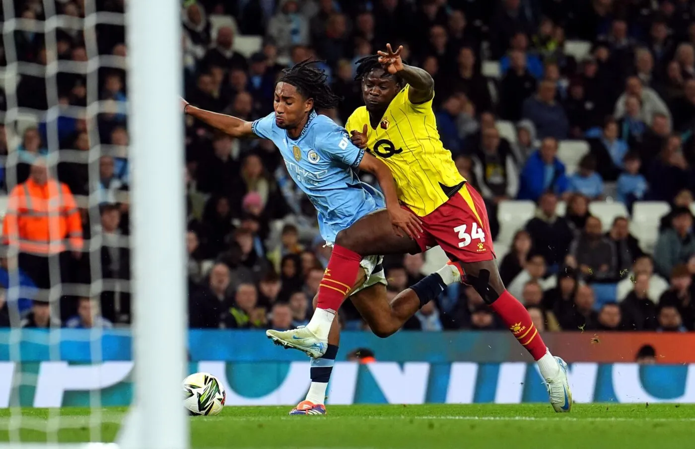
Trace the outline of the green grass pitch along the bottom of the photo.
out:
M 577 404 L 569 414 L 550 405 L 329 406 L 327 416 L 288 416 L 290 407 L 226 407 L 190 418 L 192 448 L 688 448 L 695 444 L 695 405 Z M 124 409 L 101 409 L 102 438 L 113 441 Z M 23 441 L 46 441 L 35 429 L 49 411 L 23 409 Z M 51 412 L 57 414 L 58 411 Z M 60 409 L 59 441 L 88 441 L 90 410 Z M 0 410 L 0 442 L 10 412 Z

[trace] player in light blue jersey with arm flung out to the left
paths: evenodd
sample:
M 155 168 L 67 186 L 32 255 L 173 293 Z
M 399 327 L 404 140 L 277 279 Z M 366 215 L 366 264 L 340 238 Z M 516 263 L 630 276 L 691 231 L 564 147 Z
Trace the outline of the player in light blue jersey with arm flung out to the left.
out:
M 407 247 L 414 246 L 417 251 L 412 239 L 422 232 L 420 220 L 400 206 L 389 168 L 364 149 L 353 145 L 345 129 L 329 117 L 316 113 L 315 108 L 336 107 L 338 97 L 327 85 L 325 73 L 312 67 L 311 62 L 304 61 L 283 71 L 275 86 L 275 111 L 255 122 L 204 111 L 185 100 L 182 103 L 184 113 L 230 136 L 272 140 L 279 148 L 288 173 L 316 207 L 321 236 L 328 245 L 335 242 L 339 231 L 348 229 L 354 222 L 366 215 L 379 215 L 380 218 L 375 220 L 379 229 L 373 231 L 391 236 L 389 241 L 391 238 L 395 239 L 394 242 L 408 239 L 411 245 Z M 384 195 L 362 183 L 356 170 L 373 173 Z M 402 247 L 394 245 L 398 250 L 393 253 L 402 253 Z M 328 274 L 322 281 L 322 284 L 331 284 L 326 288 L 349 292 L 350 300 L 379 336 L 393 334 L 423 304 L 438 296 L 445 286 L 461 281 L 459 270 L 447 265 L 425 278 L 428 279 L 425 284 L 430 288 L 409 288 L 389 303 L 382 259 L 382 255 L 363 258 L 360 262 L 363 272 L 354 286 L 332 284 L 325 280 Z M 269 336 L 272 332 L 268 331 Z M 327 343 L 308 341 L 308 338 L 298 339 L 296 343 L 281 342 L 293 348 L 308 348 L 316 357 L 311 362 L 311 387 L 306 400 L 300 402 L 291 414 L 325 414 L 323 402 L 338 351 L 338 337 L 333 341 L 329 338 Z M 279 342 L 276 338 L 273 340 Z

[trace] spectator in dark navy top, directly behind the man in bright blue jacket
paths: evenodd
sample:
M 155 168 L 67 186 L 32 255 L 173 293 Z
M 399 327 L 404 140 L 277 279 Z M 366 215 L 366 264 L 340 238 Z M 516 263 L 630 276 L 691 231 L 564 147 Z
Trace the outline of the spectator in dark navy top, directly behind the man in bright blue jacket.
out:
M 553 81 L 539 83 L 537 95 L 525 99 L 521 116 L 536 126 L 539 138 L 564 139 L 569 135 L 569 122 L 562 105 L 555 101 L 557 87 Z

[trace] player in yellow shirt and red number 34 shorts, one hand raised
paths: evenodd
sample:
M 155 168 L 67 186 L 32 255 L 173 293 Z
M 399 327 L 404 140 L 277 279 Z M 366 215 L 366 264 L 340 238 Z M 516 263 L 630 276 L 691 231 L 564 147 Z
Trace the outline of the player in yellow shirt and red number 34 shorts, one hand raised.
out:
M 359 261 L 363 256 L 417 253 L 439 245 L 459 268 L 462 280 L 475 288 L 537 361 L 555 411 L 569 411 L 572 397 L 567 366 L 550 354 L 528 311 L 502 284 L 482 197 L 461 177 L 439 140 L 432 111 L 432 76 L 404 64 L 402 47 L 396 51 L 390 44 L 386 47 L 387 51 L 359 61 L 356 80 L 361 83 L 365 106 L 352 113 L 345 128 L 354 145 L 391 169 L 402 207 L 418 215 L 423 232 L 416 240 L 399 236 L 389 229 L 386 215 L 376 212 L 338 233 L 311 322 L 304 329 L 282 333 L 279 340 L 294 348 L 313 342 L 331 344 L 338 334 L 334 316 L 350 286 L 361 280 Z M 388 335 L 393 323 L 402 325 L 400 319 L 415 313 L 426 298 L 435 297 L 449 283 L 443 279 L 446 272 L 438 273 L 442 276 L 431 275 L 398 295 L 391 310 L 388 305 L 384 309 L 379 298 L 366 301 L 362 292 L 351 299 L 377 335 Z M 277 332 L 269 331 L 271 334 L 278 337 Z

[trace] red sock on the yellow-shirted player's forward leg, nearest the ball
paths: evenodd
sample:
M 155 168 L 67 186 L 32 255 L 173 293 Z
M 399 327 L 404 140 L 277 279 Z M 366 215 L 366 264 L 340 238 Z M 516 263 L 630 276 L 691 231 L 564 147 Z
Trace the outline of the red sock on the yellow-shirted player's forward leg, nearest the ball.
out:
M 341 246 L 334 246 L 328 268 L 318 286 L 318 304 L 320 309 L 338 311 L 350 293 L 359 274 L 362 256 Z

